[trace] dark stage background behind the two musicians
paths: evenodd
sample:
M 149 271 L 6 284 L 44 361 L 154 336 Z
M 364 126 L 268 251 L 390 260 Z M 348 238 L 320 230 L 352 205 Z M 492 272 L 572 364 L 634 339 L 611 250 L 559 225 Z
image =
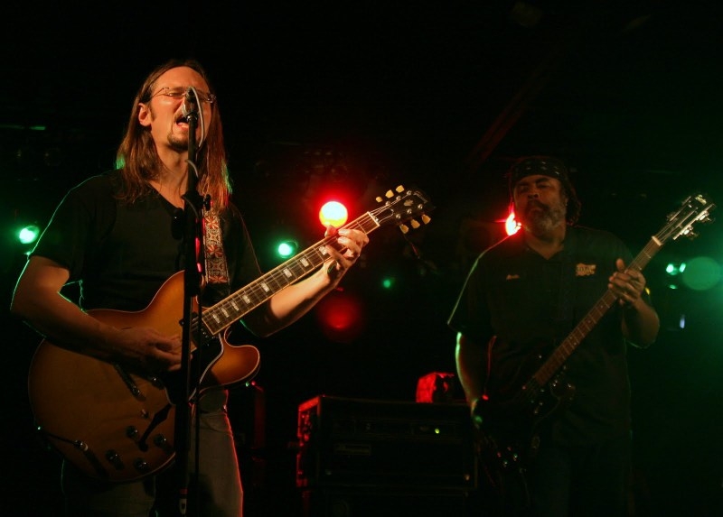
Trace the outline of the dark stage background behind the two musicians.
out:
M 171 57 L 200 59 L 215 83 L 235 200 L 265 270 L 278 235 L 321 238 L 314 203 L 326 188 L 345 193 L 352 217 L 398 184 L 436 206 L 406 237 L 371 235 L 334 293 L 360 302 L 354 336 L 329 334 L 314 312 L 274 337 L 239 337 L 262 353 L 257 387 L 234 387 L 230 402 L 240 455 L 258 460 L 245 472 L 250 517 L 296 507 L 300 403 L 321 393 L 411 402 L 420 376 L 454 371 L 446 317 L 474 256 L 500 235 L 516 156 L 567 160 L 580 223 L 634 253 L 688 195 L 723 203 L 723 12 L 712 0 L 16 3 L 4 21 L 5 306 L 24 260 L 12 228 L 44 224 L 66 189 L 112 165 L 137 86 Z M 700 226 L 646 270 L 662 332 L 630 352 L 640 517 L 723 511 L 722 232 Z M 669 262 L 712 267 L 671 279 Z M 380 287 L 387 275 L 395 289 Z M 26 394 L 39 338 L 2 314 L 0 512 L 54 515 L 60 461 L 34 435 Z

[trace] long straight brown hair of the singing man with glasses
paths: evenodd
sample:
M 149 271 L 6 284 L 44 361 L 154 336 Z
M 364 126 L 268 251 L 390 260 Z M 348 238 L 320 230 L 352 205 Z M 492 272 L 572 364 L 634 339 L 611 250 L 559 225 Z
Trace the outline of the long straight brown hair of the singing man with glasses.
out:
M 126 134 L 116 152 L 116 167 L 122 170 L 121 174 L 125 180 L 120 198 L 129 203 L 151 189 L 148 180 L 158 177 L 161 163 L 149 129 L 138 122 L 139 105 L 151 100 L 155 81 L 159 77 L 166 71 L 178 67 L 188 67 L 197 71 L 213 92 L 205 69 L 196 60 L 168 60 L 148 74 L 133 100 Z M 213 116 L 207 138 L 196 154 L 195 162 L 199 177 L 197 188 L 202 196 L 210 196 L 213 206 L 221 210 L 228 204 L 231 185 L 218 99 L 213 103 L 212 109 Z

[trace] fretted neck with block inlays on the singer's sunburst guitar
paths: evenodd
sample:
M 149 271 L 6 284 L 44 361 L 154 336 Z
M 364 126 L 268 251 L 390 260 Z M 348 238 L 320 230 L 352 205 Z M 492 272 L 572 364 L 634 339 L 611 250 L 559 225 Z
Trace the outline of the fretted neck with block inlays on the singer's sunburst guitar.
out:
M 344 225 L 343 228 L 358 229 L 369 234 L 379 226 L 377 220 L 371 216 L 370 212 L 367 212 L 362 217 Z M 277 294 L 278 291 L 314 272 L 329 258 L 330 254 L 326 249 L 328 245 L 338 248 L 335 236 L 324 237 L 315 245 L 306 248 L 285 263 L 277 265 L 228 298 L 204 309 L 202 315 L 204 326 L 209 329 L 211 334 L 218 334 Z

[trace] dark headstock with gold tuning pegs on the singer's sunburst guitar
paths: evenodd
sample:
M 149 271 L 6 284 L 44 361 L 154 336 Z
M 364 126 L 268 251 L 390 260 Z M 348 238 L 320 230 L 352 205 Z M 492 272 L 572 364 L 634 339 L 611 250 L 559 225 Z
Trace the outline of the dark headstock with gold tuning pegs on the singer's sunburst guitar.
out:
M 409 226 L 418 228 L 426 225 L 431 220 L 427 212 L 434 209 L 424 192 L 405 189 L 401 185 L 394 190 L 387 190 L 384 197 L 379 196 L 376 200 L 383 204 L 380 208 L 371 210 L 374 220 L 380 226 L 397 225 L 405 234 L 409 231 Z

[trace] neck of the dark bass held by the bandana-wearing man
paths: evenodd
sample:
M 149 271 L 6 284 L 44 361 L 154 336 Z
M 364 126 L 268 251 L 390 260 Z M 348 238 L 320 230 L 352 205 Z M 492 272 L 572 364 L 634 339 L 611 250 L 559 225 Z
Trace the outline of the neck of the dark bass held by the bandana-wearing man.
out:
M 643 268 L 648 265 L 661 247 L 662 242 L 660 242 L 658 238 L 653 237 L 648 244 L 645 245 L 643 251 L 634 258 L 630 265 L 628 265 L 628 269 L 643 271 Z M 617 300 L 617 297 L 613 291 L 608 289 L 600 300 L 597 300 L 593 308 L 587 312 L 585 317 L 577 323 L 577 326 L 573 328 L 569 336 L 560 343 L 555 351 L 549 355 L 548 359 L 540 366 L 537 372 L 532 375 L 531 383 L 538 388 L 549 383 L 552 376 L 559 371 L 562 365 L 565 364 L 569 356 L 575 352 L 577 346 L 579 346 L 582 340 L 587 337 L 587 334 L 595 328 L 597 322 L 605 316 L 606 312 L 611 307 L 613 307 L 615 300 Z

